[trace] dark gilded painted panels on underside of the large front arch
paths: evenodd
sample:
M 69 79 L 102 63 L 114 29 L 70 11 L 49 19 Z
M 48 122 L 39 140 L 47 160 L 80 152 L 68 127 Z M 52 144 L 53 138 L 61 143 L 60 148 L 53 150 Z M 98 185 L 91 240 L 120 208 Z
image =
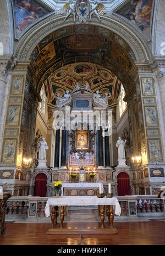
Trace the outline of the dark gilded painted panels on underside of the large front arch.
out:
M 101 65 L 121 81 L 128 81 L 136 58 L 129 45 L 117 34 L 94 25 L 73 25 L 42 39 L 32 51 L 30 60 L 36 72 L 36 83 L 41 87 L 54 71 L 76 62 Z M 85 75 L 85 72 L 81 73 Z

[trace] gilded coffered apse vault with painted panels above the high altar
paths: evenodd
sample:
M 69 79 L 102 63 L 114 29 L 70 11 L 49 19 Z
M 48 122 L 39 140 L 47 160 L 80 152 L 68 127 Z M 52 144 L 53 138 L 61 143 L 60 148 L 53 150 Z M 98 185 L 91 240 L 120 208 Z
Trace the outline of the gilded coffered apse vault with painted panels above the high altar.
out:
M 109 105 L 116 102 L 118 87 L 118 78 L 109 70 L 100 65 L 88 63 L 76 63 L 62 67 L 55 71 L 46 81 L 48 100 L 53 105 L 56 105 L 53 93 L 61 93 L 64 90 L 73 91 L 76 82 L 82 81 L 84 84 L 89 83 L 92 91 L 100 90 L 101 92 L 111 92 L 112 98 L 109 100 Z M 51 86 L 50 86 L 51 85 Z

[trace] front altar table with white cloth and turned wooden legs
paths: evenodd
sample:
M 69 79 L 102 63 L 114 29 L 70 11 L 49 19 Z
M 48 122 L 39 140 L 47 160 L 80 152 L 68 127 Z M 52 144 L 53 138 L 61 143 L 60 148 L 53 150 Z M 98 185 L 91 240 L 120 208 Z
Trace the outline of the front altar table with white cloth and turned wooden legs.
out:
M 103 197 L 98 198 L 97 196 L 66 196 L 66 197 L 59 197 L 59 198 L 48 198 L 48 201 L 46 203 L 45 207 L 45 215 L 46 217 L 50 216 L 50 206 L 52 207 L 52 227 L 48 230 L 47 233 L 54 234 L 57 230 L 57 216 L 58 216 L 58 206 L 61 206 L 61 228 L 63 228 L 63 221 L 64 221 L 64 206 L 100 206 L 100 218 L 101 218 L 101 228 L 104 228 L 104 220 L 105 220 L 105 208 L 103 206 L 107 206 L 107 217 L 108 217 L 108 225 L 110 226 L 111 231 L 108 233 L 117 234 L 117 229 L 113 226 L 113 207 L 114 213 L 116 215 L 120 215 L 121 208 L 119 205 L 119 202 L 116 197 Z M 54 228 L 55 227 L 55 228 Z

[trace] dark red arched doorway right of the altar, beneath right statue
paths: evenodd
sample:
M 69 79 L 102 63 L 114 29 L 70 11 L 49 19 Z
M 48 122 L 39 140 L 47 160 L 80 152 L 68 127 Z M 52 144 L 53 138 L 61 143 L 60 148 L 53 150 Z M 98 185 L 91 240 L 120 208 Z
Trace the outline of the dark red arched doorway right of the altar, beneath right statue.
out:
M 118 196 L 130 195 L 129 176 L 127 173 L 119 173 L 118 180 Z

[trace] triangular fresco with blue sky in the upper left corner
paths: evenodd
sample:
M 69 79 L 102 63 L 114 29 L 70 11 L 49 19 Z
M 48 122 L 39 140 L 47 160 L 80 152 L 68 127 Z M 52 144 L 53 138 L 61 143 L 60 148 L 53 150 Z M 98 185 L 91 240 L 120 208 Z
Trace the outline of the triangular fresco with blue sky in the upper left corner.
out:
M 48 9 L 42 7 L 41 4 L 34 0 L 13 0 L 13 7 L 17 35 L 30 24 L 34 23 L 38 18 L 50 13 Z

